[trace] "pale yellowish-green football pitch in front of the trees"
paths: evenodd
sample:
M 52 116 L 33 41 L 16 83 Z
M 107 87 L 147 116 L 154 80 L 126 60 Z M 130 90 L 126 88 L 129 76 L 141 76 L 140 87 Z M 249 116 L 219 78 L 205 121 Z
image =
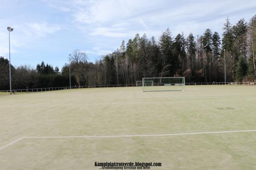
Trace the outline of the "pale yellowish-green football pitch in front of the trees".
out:
M 98 170 L 95 161 L 162 163 L 152 170 L 256 169 L 256 131 L 227 132 L 256 130 L 256 86 L 6 95 L 0 118 L 1 170 Z

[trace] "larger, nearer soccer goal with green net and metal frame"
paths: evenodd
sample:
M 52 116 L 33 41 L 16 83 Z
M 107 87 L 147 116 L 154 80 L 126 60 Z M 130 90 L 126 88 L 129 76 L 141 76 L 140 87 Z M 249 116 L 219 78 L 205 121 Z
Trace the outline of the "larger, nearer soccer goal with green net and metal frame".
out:
M 185 77 L 154 77 L 142 79 L 145 91 L 185 91 Z

